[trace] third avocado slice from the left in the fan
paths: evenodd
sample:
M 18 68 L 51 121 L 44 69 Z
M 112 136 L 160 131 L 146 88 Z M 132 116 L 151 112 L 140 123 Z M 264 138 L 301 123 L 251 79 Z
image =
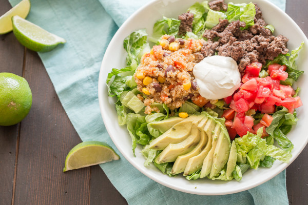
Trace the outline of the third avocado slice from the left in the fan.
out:
M 172 129 L 172 128 L 171 128 Z M 156 163 L 175 161 L 178 156 L 193 150 L 200 141 L 200 131 L 192 124 L 190 135 L 178 144 L 169 144 L 155 159 Z

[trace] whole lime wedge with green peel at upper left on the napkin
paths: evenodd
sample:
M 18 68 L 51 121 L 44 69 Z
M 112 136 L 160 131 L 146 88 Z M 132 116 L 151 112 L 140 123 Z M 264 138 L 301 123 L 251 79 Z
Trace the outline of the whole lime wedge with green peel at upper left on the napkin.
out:
M 49 33 L 20 16 L 13 16 L 12 23 L 17 40 L 30 50 L 47 52 L 54 49 L 58 44 L 66 42 L 64 38 Z

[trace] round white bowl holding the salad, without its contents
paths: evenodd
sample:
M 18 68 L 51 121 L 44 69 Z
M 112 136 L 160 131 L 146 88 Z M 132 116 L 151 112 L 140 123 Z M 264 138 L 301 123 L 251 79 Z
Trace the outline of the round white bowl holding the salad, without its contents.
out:
M 249 3 L 251 1 L 234 0 L 225 2 Z M 266 23 L 275 26 L 275 35 L 282 34 L 290 39 L 290 42 L 288 42 L 288 48 L 290 50 L 298 47 L 300 43 L 304 41 L 305 47 L 299 54 L 297 65 L 300 70 L 305 70 L 305 72 L 308 72 L 308 59 L 306 58 L 308 54 L 308 40 L 301 29 L 296 25 L 290 16 L 285 14 L 275 5 L 264 0 L 255 0 L 254 3 L 258 4 L 261 8 Z M 101 114 L 103 116 L 106 129 L 115 146 L 117 146 L 123 156 L 134 167 L 136 167 L 147 177 L 171 189 L 191 194 L 222 195 L 237 193 L 254 188 L 275 177 L 288 165 L 290 165 L 306 146 L 308 141 L 307 132 L 305 132 L 305 128 L 308 125 L 308 109 L 305 107 L 308 105 L 308 95 L 304 95 L 304 93 L 307 92 L 306 90 L 308 90 L 308 79 L 306 73 L 304 73 L 297 82 L 297 86 L 302 88 L 300 97 L 304 105 L 303 107 L 297 109 L 298 118 L 300 120 L 298 121 L 298 124 L 294 126 L 294 129 L 287 135 L 294 144 L 290 163 L 286 164 L 276 160 L 271 169 L 259 168 L 258 170 L 248 170 L 243 174 L 241 181 L 232 180 L 225 182 L 219 180 L 213 181 L 209 179 L 189 181 L 181 175 L 177 177 L 169 177 L 161 173 L 154 166 L 144 167 L 143 163 L 145 159 L 139 153 L 141 147 L 137 147 L 136 157 L 134 157 L 131 150 L 131 138 L 128 134 L 126 126 L 118 125 L 118 116 L 114 107 L 115 101 L 107 95 L 108 91 L 105 84 L 107 74 L 112 68 L 120 69 L 125 67 L 125 58 L 127 53 L 123 49 L 124 38 L 131 32 L 142 28 L 146 28 L 147 33 L 151 35 L 152 27 L 156 20 L 162 18 L 163 15 L 177 18 L 179 14 L 184 13 L 192 4 L 194 4 L 194 1 L 153 1 L 132 14 L 119 28 L 117 33 L 113 36 L 102 61 L 99 76 L 99 102 Z

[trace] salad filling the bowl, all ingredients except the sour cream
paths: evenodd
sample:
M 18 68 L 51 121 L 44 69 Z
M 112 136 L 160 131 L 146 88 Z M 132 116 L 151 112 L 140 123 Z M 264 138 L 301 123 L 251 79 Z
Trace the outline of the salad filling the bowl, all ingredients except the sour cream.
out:
M 303 73 L 295 59 L 304 45 L 288 52 L 287 38 L 263 22 L 253 3 L 204 1 L 179 19 L 163 16 L 150 36 L 140 29 L 124 39 L 127 66 L 113 68 L 106 84 L 144 166 L 188 180 L 239 181 L 248 169 L 290 161 L 286 135 L 302 106 L 292 87 Z M 201 94 L 194 74 L 213 56 L 233 58 L 239 69 L 236 91 L 217 99 Z

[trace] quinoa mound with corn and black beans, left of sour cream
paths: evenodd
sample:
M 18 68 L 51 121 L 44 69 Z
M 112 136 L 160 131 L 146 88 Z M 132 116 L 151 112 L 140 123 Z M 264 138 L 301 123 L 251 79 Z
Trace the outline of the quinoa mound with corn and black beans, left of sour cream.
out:
M 185 100 L 198 96 L 198 87 L 192 69 L 198 63 L 203 39 L 174 38 L 163 35 L 159 46 L 141 58 L 134 79 L 143 93 L 145 113 L 159 112 L 153 103 L 166 104 L 170 110 L 182 106 Z

